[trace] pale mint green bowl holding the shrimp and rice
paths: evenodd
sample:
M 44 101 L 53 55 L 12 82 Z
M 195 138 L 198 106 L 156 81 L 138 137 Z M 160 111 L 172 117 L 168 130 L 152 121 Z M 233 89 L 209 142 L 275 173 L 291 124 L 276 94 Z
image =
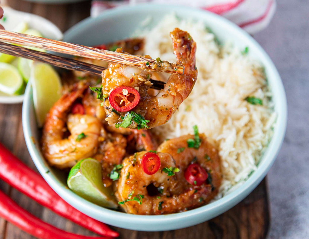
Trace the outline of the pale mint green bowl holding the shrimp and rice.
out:
M 258 59 L 265 66 L 273 93 L 275 111 L 277 112 L 273 138 L 257 170 L 252 173 L 243 185 L 223 198 L 197 209 L 169 215 L 126 214 L 97 206 L 77 196 L 67 188 L 66 175 L 49 167 L 40 152 L 38 144 L 39 130 L 34 114 L 32 88 L 28 84 L 23 102 L 23 132 L 28 150 L 39 172 L 66 202 L 88 216 L 116 227 L 140 231 L 173 230 L 192 226 L 222 214 L 243 200 L 265 177 L 276 159 L 285 135 L 287 121 L 286 95 L 276 67 L 261 46 L 248 33 L 218 15 L 189 7 L 156 4 L 120 7 L 106 11 L 97 18 L 87 18 L 76 24 L 64 34 L 64 41 L 93 46 L 120 40 L 131 36 L 147 17 L 152 17 L 153 24 L 156 24 L 162 19 L 163 15 L 169 14 L 171 11 L 184 18 L 204 21 L 218 36 L 219 40 L 223 42 L 232 41 L 240 49 L 248 46 L 250 48 L 250 57 Z

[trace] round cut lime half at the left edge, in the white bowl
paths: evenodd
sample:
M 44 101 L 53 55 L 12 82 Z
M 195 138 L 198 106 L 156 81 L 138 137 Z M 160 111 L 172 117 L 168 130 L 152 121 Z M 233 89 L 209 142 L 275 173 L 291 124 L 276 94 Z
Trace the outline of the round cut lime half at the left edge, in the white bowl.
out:
M 23 88 L 23 79 L 16 67 L 0 63 L 0 91 L 9 95 L 20 94 Z

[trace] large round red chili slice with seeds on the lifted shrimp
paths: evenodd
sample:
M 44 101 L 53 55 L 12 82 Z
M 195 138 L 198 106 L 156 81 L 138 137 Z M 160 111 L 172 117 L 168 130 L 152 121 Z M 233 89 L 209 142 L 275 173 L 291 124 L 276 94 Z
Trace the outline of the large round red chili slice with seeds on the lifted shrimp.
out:
M 110 105 L 120 112 L 127 112 L 137 106 L 141 99 L 138 91 L 129 86 L 119 86 L 109 93 L 108 101 Z

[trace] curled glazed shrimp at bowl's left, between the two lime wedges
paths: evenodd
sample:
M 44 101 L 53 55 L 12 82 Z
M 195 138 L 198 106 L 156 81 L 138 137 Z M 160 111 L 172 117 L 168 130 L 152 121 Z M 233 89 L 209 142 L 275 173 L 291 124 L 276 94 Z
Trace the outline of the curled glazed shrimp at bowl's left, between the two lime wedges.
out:
M 80 160 L 93 155 L 98 146 L 101 123 L 90 115 L 69 115 L 73 103 L 83 95 L 87 85 L 74 85 L 49 111 L 42 130 L 42 152 L 51 165 L 72 167 Z M 64 138 L 65 125 L 70 136 Z M 79 137 L 79 138 L 78 138 Z

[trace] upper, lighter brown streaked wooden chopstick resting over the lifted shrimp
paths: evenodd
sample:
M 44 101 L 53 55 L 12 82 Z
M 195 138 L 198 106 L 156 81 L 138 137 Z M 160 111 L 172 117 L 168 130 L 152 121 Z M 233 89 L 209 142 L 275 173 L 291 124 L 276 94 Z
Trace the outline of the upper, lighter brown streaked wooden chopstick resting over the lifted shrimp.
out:
M 142 67 L 152 69 L 156 72 L 167 72 L 179 75 L 184 73 L 184 67 L 176 63 L 169 63 L 167 61 L 162 62 L 159 59 L 145 59 L 135 55 L 117 53 L 113 51 L 51 40 L 43 37 L 35 37 L 6 30 L 0 30 L 0 41 L 22 46 L 32 46 L 63 54 L 104 60 L 108 62 L 116 62 L 135 67 Z

